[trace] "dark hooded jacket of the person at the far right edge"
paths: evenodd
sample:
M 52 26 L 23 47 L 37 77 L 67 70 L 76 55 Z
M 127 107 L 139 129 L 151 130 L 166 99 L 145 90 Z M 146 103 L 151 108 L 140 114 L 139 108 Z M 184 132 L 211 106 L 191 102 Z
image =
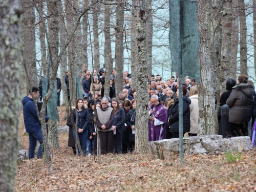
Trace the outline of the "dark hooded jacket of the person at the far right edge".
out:
M 247 123 L 253 112 L 254 86 L 248 83 L 239 83 L 232 88 L 226 104 L 229 106 L 229 122 L 237 124 Z

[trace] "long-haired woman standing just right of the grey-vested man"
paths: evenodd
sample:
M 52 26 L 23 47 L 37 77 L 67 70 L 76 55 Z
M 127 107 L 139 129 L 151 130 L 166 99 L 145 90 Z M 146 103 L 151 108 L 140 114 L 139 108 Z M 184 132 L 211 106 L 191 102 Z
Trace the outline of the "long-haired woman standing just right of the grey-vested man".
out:
M 111 99 L 111 107 L 114 110 L 114 154 L 122 153 L 122 138 L 123 132 L 126 131 L 124 122 L 125 122 L 125 113 L 122 108 L 120 108 L 118 100 L 116 98 Z

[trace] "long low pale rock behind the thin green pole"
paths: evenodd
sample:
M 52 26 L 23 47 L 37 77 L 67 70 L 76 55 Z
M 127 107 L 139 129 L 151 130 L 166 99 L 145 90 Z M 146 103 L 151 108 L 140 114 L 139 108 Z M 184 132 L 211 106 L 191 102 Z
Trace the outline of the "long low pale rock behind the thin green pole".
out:
M 184 137 L 184 154 L 215 154 L 215 152 L 225 153 L 244 152 L 252 150 L 250 137 L 232 137 L 223 139 L 221 135 L 202 135 L 196 137 Z M 148 142 L 148 150 L 154 159 L 171 160 L 179 155 L 179 138 L 164 139 L 160 141 Z

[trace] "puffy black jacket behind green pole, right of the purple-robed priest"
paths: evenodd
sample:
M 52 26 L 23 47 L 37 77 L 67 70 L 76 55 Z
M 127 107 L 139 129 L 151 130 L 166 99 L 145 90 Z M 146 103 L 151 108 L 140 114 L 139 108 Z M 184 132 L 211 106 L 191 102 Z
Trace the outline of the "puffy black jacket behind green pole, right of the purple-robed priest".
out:
M 189 104 L 191 100 L 185 95 L 183 98 L 183 132 L 190 131 L 190 108 Z M 179 99 L 174 102 L 174 105 L 170 109 L 169 123 L 170 132 L 179 132 Z

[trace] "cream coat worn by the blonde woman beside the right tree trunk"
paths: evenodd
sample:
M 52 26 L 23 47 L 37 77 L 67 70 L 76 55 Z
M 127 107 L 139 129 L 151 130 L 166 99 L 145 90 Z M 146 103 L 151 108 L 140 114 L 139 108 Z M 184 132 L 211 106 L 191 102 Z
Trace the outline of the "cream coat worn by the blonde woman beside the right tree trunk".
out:
M 198 95 L 192 95 L 189 97 L 191 100 L 190 107 L 190 132 L 192 134 L 198 133 L 198 121 L 199 121 L 199 107 L 198 107 Z

